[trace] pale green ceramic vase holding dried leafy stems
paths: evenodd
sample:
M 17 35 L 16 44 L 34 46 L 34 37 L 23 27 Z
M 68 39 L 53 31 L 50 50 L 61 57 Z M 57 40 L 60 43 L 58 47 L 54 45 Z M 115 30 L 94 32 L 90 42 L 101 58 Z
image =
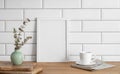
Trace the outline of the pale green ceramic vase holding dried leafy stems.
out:
M 11 62 L 13 65 L 21 65 L 23 63 L 23 60 L 24 60 L 24 55 L 19 49 L 15 50 L 11 54 Z

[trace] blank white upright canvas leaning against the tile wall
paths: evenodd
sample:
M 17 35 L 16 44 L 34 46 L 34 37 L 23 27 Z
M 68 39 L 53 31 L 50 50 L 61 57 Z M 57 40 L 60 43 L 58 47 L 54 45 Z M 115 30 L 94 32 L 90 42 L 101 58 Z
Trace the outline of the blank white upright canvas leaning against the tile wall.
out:
M 37 62 L 66 60 L 65 20 L 37 19 Z

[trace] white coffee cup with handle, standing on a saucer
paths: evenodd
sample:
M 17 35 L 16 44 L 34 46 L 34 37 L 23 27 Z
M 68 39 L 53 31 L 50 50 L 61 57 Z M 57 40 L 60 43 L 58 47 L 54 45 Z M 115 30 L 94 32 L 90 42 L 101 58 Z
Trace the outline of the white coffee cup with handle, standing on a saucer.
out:
M 92 52 L 80 52 L 80 62 L 83 65 L 89 65 L 95 60 L 95 55 Z

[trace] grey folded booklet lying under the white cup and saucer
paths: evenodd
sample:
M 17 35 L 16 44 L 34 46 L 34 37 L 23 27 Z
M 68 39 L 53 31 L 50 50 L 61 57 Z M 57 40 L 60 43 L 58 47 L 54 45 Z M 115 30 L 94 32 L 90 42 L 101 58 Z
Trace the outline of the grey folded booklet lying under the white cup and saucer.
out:
M 101 60 L 95 60 L 95 64 L 92 65 L 82 65 L 79 63 L 75 63 L 71 65 L 74 68 L 80 68 L 80 69 L 84 69 L 84 70 L 89 70 L 89 71 L 93 71 L 93 70 L 101 70 L 101 69 L 106 69 L 106 68 L 111 68 L 114 67 L 115 65 L 112 64 L 107 64 Z

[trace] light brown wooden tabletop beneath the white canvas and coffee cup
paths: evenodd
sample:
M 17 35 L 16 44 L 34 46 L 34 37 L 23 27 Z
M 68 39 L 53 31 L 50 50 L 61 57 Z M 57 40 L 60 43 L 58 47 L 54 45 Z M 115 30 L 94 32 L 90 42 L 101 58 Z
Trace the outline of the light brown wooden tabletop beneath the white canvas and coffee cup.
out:
M 109 63 L 116 66 L 99 71 L 86 71 L 82 69 L 72 68 L 70 65 L 73 64 L 73 62 L 37 64 L 40 64 L 43 67 L 43 71 L 39 74 L 120 74 L 120 62 Z

